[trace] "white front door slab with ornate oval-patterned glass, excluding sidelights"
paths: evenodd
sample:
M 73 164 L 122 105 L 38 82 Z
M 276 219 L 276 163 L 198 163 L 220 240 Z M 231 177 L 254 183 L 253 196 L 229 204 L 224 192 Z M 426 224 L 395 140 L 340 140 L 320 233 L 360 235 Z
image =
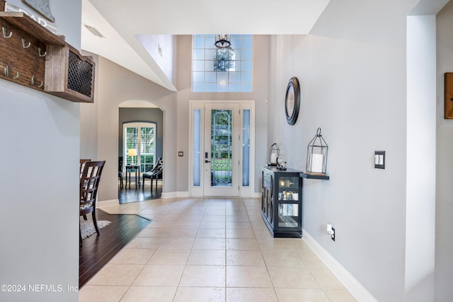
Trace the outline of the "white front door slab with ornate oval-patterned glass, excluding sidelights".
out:
M 240 104 L 205 104 L 204 196 L 239 196 Z

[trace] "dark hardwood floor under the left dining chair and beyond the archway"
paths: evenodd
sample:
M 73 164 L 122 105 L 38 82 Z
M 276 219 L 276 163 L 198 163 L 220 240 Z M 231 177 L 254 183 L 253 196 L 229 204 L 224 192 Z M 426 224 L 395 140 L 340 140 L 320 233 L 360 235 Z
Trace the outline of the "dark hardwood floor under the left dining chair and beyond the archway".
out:
M 144 188 L 135 188 L 134 183 L 132 181 L 130 189 L 129 186 L 127 189 L 120 189 L 118 186 L 120 204 L 161 197 L 161 180 L 158 182 L 157 190 L 154 182 L 153 192 L 149 181 L 145 182 Z M 96 236 L 95 233 L 82 240 L 83 245 L 79 249 L 79 289 L 151 222 L 138 215 L 110 215 L 101 209 L 96 210 L 96 217 L 98 220 L 108 220 L 112 223 L 101 229 L 100 236 Z

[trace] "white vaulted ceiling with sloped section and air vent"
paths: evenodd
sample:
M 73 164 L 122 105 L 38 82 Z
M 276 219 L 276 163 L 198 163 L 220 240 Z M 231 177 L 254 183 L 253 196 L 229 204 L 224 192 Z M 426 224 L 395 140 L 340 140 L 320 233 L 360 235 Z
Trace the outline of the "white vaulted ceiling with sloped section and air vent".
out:
M 306 34 L 329 1 L 82 0 L 81 48 L 176 91 L 138 35 Z

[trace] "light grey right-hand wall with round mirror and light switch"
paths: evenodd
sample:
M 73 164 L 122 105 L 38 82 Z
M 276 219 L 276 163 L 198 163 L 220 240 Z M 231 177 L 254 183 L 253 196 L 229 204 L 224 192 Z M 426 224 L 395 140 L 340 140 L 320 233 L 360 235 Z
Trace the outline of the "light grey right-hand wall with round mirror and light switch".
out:
M 438 19 L 442 71 L 435 71 L 435 13 L 445 2 L 331 2 L 311 35 L 270 42 L 270 100 L 298 76 L 302 116 L 290 127 L 283 104 L 273 101 L 269 140 L 301 170 L 317 127 L 329 144 L 331 180 L 304 180 L 304 228 L 378 301 L 452 296 L 452 194 L 444 181 L 452 176 L 451 123 L 440 119 L 452 58 L 451 6 Z M 411 11 L 427 16 L 407 18 Z M 272 119 L 275 112 L 281 118 Z M 373 168 L 374 150 L 386 151 L 385 170 Z M 326 223 L 336 226 L 335 243 Z

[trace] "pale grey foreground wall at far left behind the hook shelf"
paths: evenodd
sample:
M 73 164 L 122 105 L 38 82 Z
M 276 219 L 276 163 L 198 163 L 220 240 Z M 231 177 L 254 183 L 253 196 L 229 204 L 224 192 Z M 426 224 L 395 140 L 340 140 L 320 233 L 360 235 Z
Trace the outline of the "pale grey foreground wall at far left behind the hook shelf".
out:
M 81 1 L 50 9 L 58 34 L 80 47 Z M 77 301 L 67 286 L 79 285 L 79 104 L 3 79 L 0 99 L 0 284 L 26 286 L 0 300 Z

